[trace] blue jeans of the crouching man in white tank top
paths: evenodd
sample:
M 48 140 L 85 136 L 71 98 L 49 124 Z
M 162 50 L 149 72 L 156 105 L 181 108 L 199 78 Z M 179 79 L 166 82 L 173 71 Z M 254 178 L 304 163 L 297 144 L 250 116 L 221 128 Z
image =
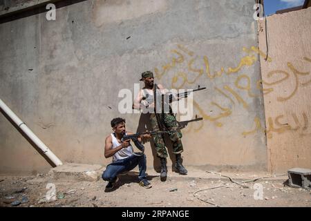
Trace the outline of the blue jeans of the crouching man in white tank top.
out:
M 146 155 L 131 155 L 123 160 L 117 160 L 106 167 L 106 171 L 102 174 L 105 181 L 114 181 L 117 175 L 133 170 L 137 165 L 140 171 L 138 178 L 146 180 Z

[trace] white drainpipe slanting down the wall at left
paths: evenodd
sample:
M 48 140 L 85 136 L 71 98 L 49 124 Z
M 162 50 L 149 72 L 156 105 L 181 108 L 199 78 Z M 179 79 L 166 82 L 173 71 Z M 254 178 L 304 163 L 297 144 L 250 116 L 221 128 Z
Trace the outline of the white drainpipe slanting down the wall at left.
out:
M 15 124 L 19 126 L 19 128 L 21 128 L 21 131 L 23 131 L 23 133 L 25 133 L 29 139 L 41 149 L 41 151 L 53 162 L 53 164 L 55 164 L 55 166 L 63 164 L 62 161 L 60 161 L 59 158 L 52 151 L 50 151 L 50 149 L 43 142 L 41 142 L 41 140 L 34 133 L 32 133 L 32 131 L 30 131 L 30 128 L 28 128 L 28 126 L 26 126 L 26 124 L 22 122 L 21 119 L 19 119 L 19 117 L 17 117 L 17 115 L 15 115 L 15 113 L 13 113 L 1 99 L 0 108 L 8 115 L 8 117 L 10 117 L 10 119 L 12 119 L 13 122 L 15 122 Z

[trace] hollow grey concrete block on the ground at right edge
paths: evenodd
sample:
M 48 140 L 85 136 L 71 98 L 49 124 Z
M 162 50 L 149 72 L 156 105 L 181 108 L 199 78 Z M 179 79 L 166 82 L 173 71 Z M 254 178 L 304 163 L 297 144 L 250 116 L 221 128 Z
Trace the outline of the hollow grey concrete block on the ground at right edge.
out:
M 311 169 L 293 168 L 288 170 L 288 184 L 295 188 L 311 189 Z

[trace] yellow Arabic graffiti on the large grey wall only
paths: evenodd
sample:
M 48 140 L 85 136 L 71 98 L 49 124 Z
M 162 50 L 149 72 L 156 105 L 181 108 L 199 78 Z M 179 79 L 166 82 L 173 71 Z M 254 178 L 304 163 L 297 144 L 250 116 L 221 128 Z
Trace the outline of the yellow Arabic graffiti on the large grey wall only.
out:
M 247 52 L 247 56 L 242 57 L 241 60 L 239 61 L 239 64 L 236 67 L 229 67 L 229 68 L 220 68 L 219 71 L 216 71 L 215 73 L 211 74 L 211 70 L 210 70 L 210 66 L 209 66 L 209 60 L 207 58 L 207 56 L 202 56 L 202 65 L 200 65 L 200 59 L 198 59 L 198 56 L 194 57 L 194 52 L 192 52 L 191 50 L 188 50 L 187 48 L 185 48 L 185 46 L 182 45 L 178 45 L 178 50 L 171 50 L 170 53 L 173 56 L 178 55 L 178 57 L 172 57 L 170 59 L 169 62 L 167 62 L 167 64 L 162 65 L 162 71 L 160 72 L 160 70 L 158 68 L 154 68 L 155 70 L 155 74 L 156 74 L 156 78 L 158 80 L 160 80 L 165 74 L 167 74 L 169 72 L 169 70 L 172 70 L 173 68 L 176 68 L 177 64 L 182 64 L 185 63 L 185 61 L 187 61 L 186 56 L 189 56 L 189 60 L 187 61 L 187 70 L 189 72 L 189 74 L 186 74 L 184 72 L 178 72 L 175 75 L 173 75 L 173 77 L 171 78 L 171 88 L 174 89 L 180 89 L 183 88 L 185 86 L 185 84 L 194 84 L 196 83 L 196 81 L 198 81 L 198 79 L 204 75 L 206 75 L 207 78 L 209 79 L 214 79 L 215 77 L 221 77 L 224 73 L 227 75 L 230 75 L 232 73 L 237 73 L 238 71 L 240 71 L 244 66 L 252 66 L 254 65 L 254 62 L 257 61 L 257 57 L 252 55 L 253 53 L 256 53 L 258 55 L 261 55 L 263 57 L 266 57 L 265 53 L 261 52 L 261 50 L 259 50 L 258 48 L 252 46 L 251 48 L 247 49 L 247 48 L 243 48 L 244 52 Z M 184 54 L 182 54 L 184 53 Z M 270 61 L 271 59 L 269 59 Z M 247 79 L 247 86 L 241 86 L 241 79 Z M 251 93 L 251 88 L 250 88 L 250 79 L 249 77 L 247 77 L 247 75 L 242 75 L 241 77 L 238 77 L 238 79 L 236 80 L 236 87 L 238 89 L 241 90 L 247 90 L 248 95 L 251 95 L 252 97 L 254 97 L 255 95 L 253 95 Z M 239 104 L 243 104 L 244 108 L 248 108 L 248 104 L 245 102 L 245 100 L 238 95 L 238 92 L 236 92 L 233 88 L 231 88 L 228 85 L 225 85 L 223 87 L 225 90 L 227 90 L 227 92 L 229 92 L 229 94 L 233 95 L 236 100 L 238 101 Z M 219 88 L 214 88 L 216 91 L 218 91 L 218 93 L 220 93 L 221 95 L 227 97 L 227 99 L 230 100 L 230 102 L 232 102 L 232 104 L 235 104 L 233 99 L 227 95 L 226 93 L 224 93 L 222 90 L 220 90 Z M 232 114 L 232 111 L 229 108 L 225 108 L 223 106 L 220 106 L 218 103 L 216 102 L 211 102 L 210 103 L 211 106 L 216 106 L 219 110 L 220 113 L 216 116 L 214 115 L 209 115 L 207 113 L 205 113 L 205 111 L 200 107 L 200 105 L 198 105 L 198 103 L 196 102 L 196 100 L 194 100 L 194 109 L 195 111 L 197 111 L 200 115 L 202 115 L 202 117 L 210 122 L 214 122 L 214 124 L 218 127 L 223 126 L 223 123 L 218 122 L 218 119 L 223 118 L 223 117 L 228 117 L 229 115 Z M 195 131 L 200 130 L 200 128 L 202 128 L 202 126 L 204 125 L 204 122 L 201 123 L 199 128 L 196 128 Z

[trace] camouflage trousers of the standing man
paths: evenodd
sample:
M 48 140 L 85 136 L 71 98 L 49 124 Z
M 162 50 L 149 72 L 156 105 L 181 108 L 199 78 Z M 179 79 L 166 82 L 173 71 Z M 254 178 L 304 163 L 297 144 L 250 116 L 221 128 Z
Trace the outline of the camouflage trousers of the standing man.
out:
M 181 141 L 182 133 L 178 128 L 178 122 L 176 121 L 176 118 L 168 113 L 164 113 L 162 116 L 164 118 L 163 119 L 164 125 L 169 130 L 169 138 L 171 142 L 173 142 L 173 153 L 174 154 L 182 153 L 182 151 L 184 151 Z M 153 131 L 158 131 L 159 127 L 156 114 L 152 113 L 150 119 Z M 165 147 L 162 135 L 161 134 L 153 135 L 153 142 L 156 146 L 158 157 L 168 157 L 167 148 Z

